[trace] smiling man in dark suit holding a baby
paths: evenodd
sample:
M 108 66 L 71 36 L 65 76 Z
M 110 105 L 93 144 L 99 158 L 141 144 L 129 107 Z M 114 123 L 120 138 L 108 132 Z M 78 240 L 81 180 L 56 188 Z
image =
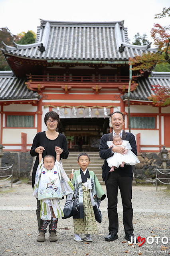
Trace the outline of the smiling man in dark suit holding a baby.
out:
M 108 148 L 106 142 L 110 140 L 112 141 L 113 136 L 118 134 L 123 140 L 129 141 L 132 147 L 132 152 L 137 156 L 136 141 L 132 133 L 125 132 L 123 130 L 125 118 L 121 112 L 116 111 L 111 115 L 111 124 L 113 126 L 113 132 L 104 134 L 101 137 L 99 146 L 100 157 L 105 160 L 104 165 L 102 166 L 102 178 L 106 184 L 108 198 L 107 210 L 109 218 L 109 235 L 105 237 L 105 240 L 113 241 L 118 238 L 117 232 L 119 224 L 117 214 L 117 194 L 119 188 L 123 204 L 123 225 L 125 229 L 125 239 L 134 242 L 132 225 L 133 209 L 131 203 L 133 180 L 132 166 L 125 164 L 123 168 L 115 168 L 114 172 L 109 172 L 110 167 L 108 166 L 106 159 L 112 156 L 114 152 L 123 154 L 125 149 L 122 146 Z

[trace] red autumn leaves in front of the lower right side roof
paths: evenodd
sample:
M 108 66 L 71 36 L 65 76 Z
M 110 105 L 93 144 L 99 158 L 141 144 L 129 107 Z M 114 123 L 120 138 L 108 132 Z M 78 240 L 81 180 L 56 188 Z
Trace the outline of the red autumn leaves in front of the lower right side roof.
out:
M 154 106 L 163 107 L 170 105 L 170 88 L 157 84 L 152 85 L 151 90 L 154 91 L 154 95 L 151 94 L 148 100 L 152 100 Z

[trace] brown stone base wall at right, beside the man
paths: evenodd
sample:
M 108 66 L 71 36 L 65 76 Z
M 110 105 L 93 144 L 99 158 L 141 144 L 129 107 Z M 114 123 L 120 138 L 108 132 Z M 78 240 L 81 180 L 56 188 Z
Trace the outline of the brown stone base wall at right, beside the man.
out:
M 164 169 L 160 153 L 140 153 L 138 159 L 140 163 L 133 166 L 136 181 L 155 182 L 156 172 L 154 168 Z M 166 168 L 170 169 L 170 159 L 166 162 Z

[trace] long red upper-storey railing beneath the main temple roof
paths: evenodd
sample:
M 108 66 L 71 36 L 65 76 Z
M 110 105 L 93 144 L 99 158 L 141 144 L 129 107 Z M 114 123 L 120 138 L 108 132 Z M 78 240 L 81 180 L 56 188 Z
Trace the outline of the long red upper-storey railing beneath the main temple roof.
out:
M 129 81 L 128 76 L 38 76 L 38 75 L 27 75 L 28 80 L 32 80 L 35 82 L 42 81 L 42 82 L 77 82 L 77 83 L 121 83 Z

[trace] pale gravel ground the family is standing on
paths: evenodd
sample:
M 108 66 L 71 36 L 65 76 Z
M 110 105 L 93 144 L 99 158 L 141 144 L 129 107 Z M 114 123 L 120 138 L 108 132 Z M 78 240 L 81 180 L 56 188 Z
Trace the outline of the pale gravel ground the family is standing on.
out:
M 93 242 L 75 242 L 73 240 L 73 219 L 59 219 L 57 242 L 49 242 L 49 234 L 45 242 L 36 241 L 38 225 L 36 220 L 36 198 L 32 196 L 29 184 L 13 184 L 11 189 L 5 182 L 0 182 L 0 256 L 132 256 L 170 255 L 170 242 L 162 243 L 166 236 L 170 241 L 170 200 L 166 187 L 133 186 L 133 225 L 134 235 L 149 238 L 140 244 L 128 245 L 124 236 L 122 206 L 119 193 L 119 238 L 106 242 L 108 234 L 107 199 L 101 202 L 102 223 L 97 223 L 98 234 L 93 235 Z M 105 186 L 103 186 L 105 190 Z M 64 200 L 61 200 L 64 206 Z M 159 236 L 160 238 L 156 238 Z M 156 243 L 158 239 L 158 244 Z M 166 242 L 164 238 L 163 242 Z

